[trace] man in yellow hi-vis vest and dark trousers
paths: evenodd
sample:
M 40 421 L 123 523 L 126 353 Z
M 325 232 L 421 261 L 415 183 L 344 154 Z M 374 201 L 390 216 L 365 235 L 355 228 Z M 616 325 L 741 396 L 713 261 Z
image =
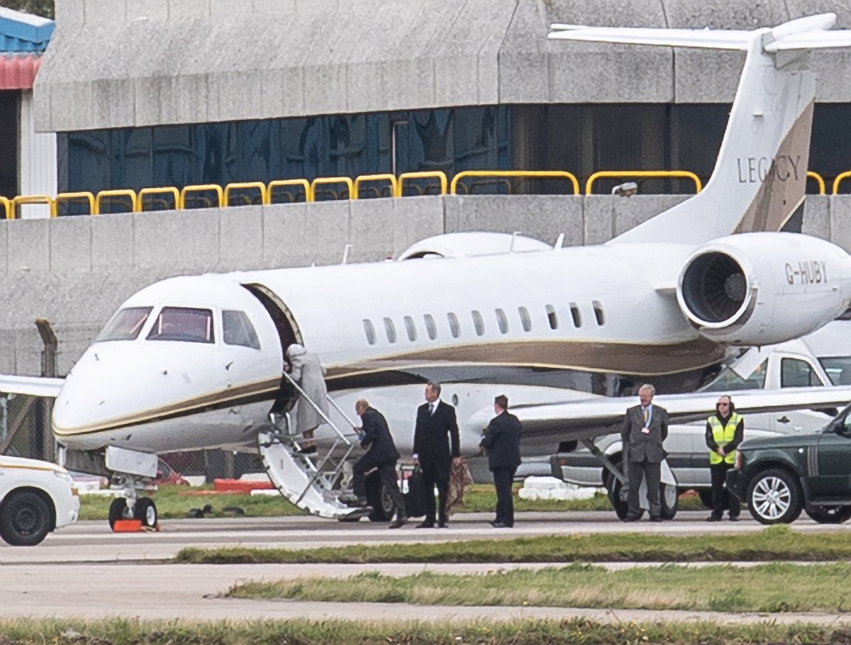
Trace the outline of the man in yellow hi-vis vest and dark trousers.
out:
M 739 498 L 724 488 L 727 471 L 736 463 L 736 448 L 745 437 L 745 419 L 736 414 L 733 401 L 725 394 L 715 405 L 715 414 L 706 420 L 706 446 L 712 473 L 712 514 L 706 522 L 718 522 L 727 502 L 730 522 L 739 521 Z

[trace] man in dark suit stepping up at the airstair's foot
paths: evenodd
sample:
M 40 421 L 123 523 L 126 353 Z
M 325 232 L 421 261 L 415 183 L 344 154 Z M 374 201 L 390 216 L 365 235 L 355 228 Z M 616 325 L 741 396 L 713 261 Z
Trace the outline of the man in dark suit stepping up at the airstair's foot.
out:
M 381 414 L 375 408 L 370 408 L 366 399 L 360 399 L 355 403 L 355 412 L 361 418 L 359 430 L 361 447 L 366 448 L 368 446 L 369 449 L 363 457 L 357 460 L 353 469 L 354 483 L 352 488 L 354 488 L 354 494 L 357 498 L 353 505 L 366 505 L 364 480 L 369 471 L 377 470 L 381 483 L 391 494 L 393 506 L 396 510 L 396 519 L 389 528 L 403 527 L 405 522 L 408 521 L 408 517 L 405 514 L 405 499 L 399 490 L 396 476 L 396 462 L 399 459 L 399 451 L 396 449 L 396 443 L 393 442 L 390 428 L 387 427 L 387 420 L 384 418 L 384 414 Z

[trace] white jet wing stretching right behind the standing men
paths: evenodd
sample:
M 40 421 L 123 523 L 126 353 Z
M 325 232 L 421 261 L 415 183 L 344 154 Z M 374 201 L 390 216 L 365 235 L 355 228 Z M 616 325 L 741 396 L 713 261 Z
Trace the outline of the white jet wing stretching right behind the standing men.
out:
M 726 392 L 693 392 L 654 397 L 654 405 L 665 408 L 673 423 L 705 420 L 718 397 Z M 736 412 L 756 414 L 804 408 L 844 408 L 851 402 L 851 387 L 795 387 L 782 390 L 741 390 L 729 393 Z M 620 432 L 626 408 L 637 405 L 637 397 L 598 397 L 577 402 L 516 405 L 516 414 L 527 436 L 552 434 L 560 441 L 599 437 Z M 488 425 L 484 419 L 483 427 Z M 745 427 L 747 418 L 745 416 Z

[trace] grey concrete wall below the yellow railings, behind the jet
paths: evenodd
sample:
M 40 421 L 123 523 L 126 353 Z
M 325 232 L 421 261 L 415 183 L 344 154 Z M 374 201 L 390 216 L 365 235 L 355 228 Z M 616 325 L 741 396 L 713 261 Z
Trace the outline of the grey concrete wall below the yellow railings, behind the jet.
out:
M 384 260 L 454 231 L 603 243 L 685 196 L 472 196 L 0 220 L 0 373 L 39 374 L 34 320 L 65 374 L 123 300 L 181 274 Z M 851 196 L 808 197 L 802 231 L 851 251 Z

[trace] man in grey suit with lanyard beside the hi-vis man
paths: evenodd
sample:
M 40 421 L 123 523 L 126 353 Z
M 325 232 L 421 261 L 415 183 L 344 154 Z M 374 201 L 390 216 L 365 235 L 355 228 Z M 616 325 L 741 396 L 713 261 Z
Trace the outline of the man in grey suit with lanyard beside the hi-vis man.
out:
M 630 490 L 629 505 L 624 522 L 636 522 L 641 517 L 638 491 L 642 477 L 647 482 L 647 500 L 650 505 L 650 522 L 661 522 L 662 506 L 659 499 L 662 460 L 665 450 L 662 442 L 668 437 L 668 412 L 653 404 L 656 388 L 642 385 L 638 389 L 641 404 L 626 410 L 620 438 L 626 450 L 626 468 Z

